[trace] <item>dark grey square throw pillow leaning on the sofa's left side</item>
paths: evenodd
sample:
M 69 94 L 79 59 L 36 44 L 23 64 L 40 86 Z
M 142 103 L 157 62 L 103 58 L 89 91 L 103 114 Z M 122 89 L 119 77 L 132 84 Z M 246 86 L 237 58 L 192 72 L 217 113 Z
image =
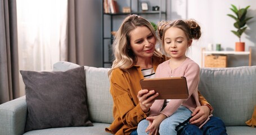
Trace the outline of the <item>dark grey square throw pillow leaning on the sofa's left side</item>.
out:
M 68 71 L 20 71 L 28 116 L 25 131 L 92 126 L 86 105 L 84 66 Z

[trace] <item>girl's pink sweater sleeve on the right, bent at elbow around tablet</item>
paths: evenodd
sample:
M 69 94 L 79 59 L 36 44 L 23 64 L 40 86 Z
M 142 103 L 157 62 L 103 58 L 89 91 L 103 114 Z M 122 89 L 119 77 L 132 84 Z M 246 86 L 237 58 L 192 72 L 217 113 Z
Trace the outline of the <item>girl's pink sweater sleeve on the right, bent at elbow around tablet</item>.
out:
M 196 63 L 190 63 L 187 65 L 184 77 L 186 77 L 186 79 L 187 79 L 188 98 L 191 98 L 192 93 L 197 91 L 197 87 L 199 84 L 199 72 L 200 72 L 200 68 Z M 160 113 L 169 117 L 185 101 L 187 101 L 187 99 L 170 100 L 168 102 L 167 106 Z

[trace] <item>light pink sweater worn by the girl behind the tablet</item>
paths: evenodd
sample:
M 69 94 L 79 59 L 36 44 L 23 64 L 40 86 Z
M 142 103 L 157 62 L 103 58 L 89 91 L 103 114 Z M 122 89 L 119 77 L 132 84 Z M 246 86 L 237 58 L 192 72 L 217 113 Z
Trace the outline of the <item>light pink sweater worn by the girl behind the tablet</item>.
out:
M 191 111 L 194 111 L 196 106 L 201 106 L 198 100 L 197 88 L 199 84 L 200 68 L 196 62 L 190 58 L 187 59 L 176 69 L 170 69 L 169 61 L 165 61 L 156 69 L 156 78 L 167 77 L 186 77 L 188 87 L 188 98 L 182 100 L 170 100 L 167 106 L 163 109 L 164 100 L 156 100 L 150 108 L 150 116 L 159 115 L 159 113 L 171 116 L 179 106 L 186 106 Z

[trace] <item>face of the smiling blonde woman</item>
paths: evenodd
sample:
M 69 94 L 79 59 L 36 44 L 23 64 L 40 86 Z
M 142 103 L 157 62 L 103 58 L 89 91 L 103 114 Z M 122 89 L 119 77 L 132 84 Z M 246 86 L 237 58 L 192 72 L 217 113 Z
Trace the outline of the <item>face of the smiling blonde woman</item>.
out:
M 130 33 L 131 49 L 137 59 L 152 57 L 155 50 L 156 38 L 146 26 L 138 26 Z

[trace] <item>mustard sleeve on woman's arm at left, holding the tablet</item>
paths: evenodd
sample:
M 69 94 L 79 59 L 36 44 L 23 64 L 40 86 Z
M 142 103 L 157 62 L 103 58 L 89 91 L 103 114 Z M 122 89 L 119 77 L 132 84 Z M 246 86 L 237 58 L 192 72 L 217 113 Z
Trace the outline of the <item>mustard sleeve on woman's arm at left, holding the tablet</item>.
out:
M 129 89 L 123 72 L 113 70 L 110 78 L 110 92 L 114 101 L 114 118 L 120 116 L 124 125 L 136 127 L 147 115 L 142 111 L 140 104 L 134 104 L 130 91 L 132 89 Z

